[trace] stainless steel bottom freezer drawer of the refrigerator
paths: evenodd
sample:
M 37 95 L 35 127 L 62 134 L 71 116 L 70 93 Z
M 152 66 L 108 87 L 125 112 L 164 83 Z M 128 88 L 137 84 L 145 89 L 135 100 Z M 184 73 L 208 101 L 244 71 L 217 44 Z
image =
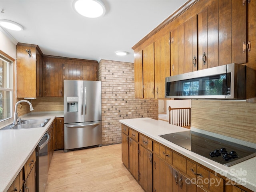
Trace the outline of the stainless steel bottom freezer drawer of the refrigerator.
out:
M 102 145 L 102 121 L 64 124 L 64 152 Z

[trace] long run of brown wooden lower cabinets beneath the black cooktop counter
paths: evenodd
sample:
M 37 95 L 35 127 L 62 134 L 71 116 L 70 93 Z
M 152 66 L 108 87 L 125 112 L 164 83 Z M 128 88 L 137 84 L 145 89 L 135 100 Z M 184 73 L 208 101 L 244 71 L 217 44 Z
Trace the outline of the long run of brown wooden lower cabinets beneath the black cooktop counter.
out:
M 146 192 L 252 192 L 123 124 L 122 161 Z

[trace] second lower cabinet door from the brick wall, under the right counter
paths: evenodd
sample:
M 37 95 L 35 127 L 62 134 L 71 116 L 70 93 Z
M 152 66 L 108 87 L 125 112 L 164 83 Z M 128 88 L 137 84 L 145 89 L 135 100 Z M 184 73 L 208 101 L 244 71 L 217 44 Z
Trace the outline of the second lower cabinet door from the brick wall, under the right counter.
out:
M 139 144 L 132 138 L 129 138 L 129 170 L 134 178 L 139 180 Z

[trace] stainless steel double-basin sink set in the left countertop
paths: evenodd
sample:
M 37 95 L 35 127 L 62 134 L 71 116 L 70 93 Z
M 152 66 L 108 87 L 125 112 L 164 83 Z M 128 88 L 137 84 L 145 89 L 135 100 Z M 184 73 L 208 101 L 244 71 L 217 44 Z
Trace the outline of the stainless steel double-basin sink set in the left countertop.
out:
M 28 128 L 39 128 L 44 127 L 50 119 L 28 119 L 21 120 L 18 124 L 10 124 L 0 130 L 12 130 L 12 129 L 28 129 Z

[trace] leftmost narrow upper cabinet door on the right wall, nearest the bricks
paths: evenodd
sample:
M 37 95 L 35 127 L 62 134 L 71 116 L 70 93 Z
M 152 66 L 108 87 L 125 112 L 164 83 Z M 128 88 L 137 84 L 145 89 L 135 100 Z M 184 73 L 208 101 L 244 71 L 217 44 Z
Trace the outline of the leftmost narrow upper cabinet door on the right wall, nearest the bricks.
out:
M 142 50 L 134 52 L 134 89 L 135 98 L 143 98 Z

